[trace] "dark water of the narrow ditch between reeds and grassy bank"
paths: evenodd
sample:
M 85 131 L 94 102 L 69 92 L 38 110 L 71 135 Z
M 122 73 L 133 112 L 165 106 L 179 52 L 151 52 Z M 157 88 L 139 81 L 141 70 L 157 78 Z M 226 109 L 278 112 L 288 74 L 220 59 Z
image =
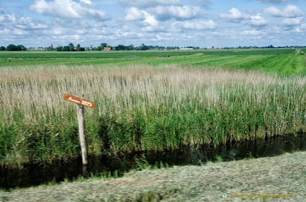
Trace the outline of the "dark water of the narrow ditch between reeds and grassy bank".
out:
M 0 167 L 0 189 L 13 189 L 45 184 L 50 181 L 60 182 L 64 179 L 76 179 L 84 174 L 100 176 L 108 172 L 127 172 L 137 167 L 135 158 L 149 164 L 187 165 L 203 164 L 215 161 L 217 156 L 222 159 L 243 159 L 246 157 L 271 157 L 284 152 L 306 150 L 306 134 L 288 135 L 267 138 L 266 140 L 252 140 L 246 142 L 228 142 L 214 147 L 202 145 L 198 147 L 183 147 L 180 150 L 142 152 L 120 157 L 89 157 L 89 166 L 84 172 L 81 158 L 69 162 L 54 162 L 52 164 L 25 164 L 22 169 Z

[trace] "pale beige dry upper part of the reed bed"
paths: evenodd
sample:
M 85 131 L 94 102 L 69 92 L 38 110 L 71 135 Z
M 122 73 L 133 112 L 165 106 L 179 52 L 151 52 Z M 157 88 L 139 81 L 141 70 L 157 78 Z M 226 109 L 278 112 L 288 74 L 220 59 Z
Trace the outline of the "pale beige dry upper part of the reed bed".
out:
M 162 98 L 167 96 L 173 97 L 176 103 L 193 97 L 206 106 L 217 106 L 220 100 L 225 100 L 224 97 L 221 98 L 220 91 L 223 92 L 222 96 L 229 96 L 233 89 L 242 86 L 242 89 L 249 91 L 248 100 L 254 99 L 254 102 L 259 104 L 271 100 L 271 89 L 268 86 L 283 86 L 283 96 L 287 96 L 289 86 L 305 86 L 303 77 L 280 79 L 252 71 L 183 69 L 175 65 L 3 67 L 0 69 L 0 82 L 1 101 L 10 103 L 2 106 L 8 114 L 13 108 L 27 111 L 26 109 L 33 105 L 35 113 L 55 106 L 55 111 L 64 111 L 67 103 L 62 101 L 63 94 L 84 93 L 86 99 L 106 96 L 106 99 L 120 110 L 122 103 L 125 107 L 131 108 L 135 103 L 143 102 L 132 101 L 132 96 L 140 96 L 145 102 L 152 104 L 164 101 Z M 277 87 L 273 90 L 272 100 L 277 100 L 279 92 L 280 89 Z

